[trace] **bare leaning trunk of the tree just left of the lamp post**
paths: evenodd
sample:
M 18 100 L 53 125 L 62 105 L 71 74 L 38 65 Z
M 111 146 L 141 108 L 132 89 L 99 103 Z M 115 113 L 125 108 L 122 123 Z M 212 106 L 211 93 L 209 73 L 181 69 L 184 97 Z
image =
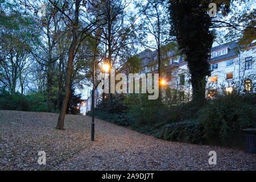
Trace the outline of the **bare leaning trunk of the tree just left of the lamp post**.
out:
M 65 115 L 68 107 L 69 95 L 71 92 L 71 89 L 70 89 L 71 76 L 72 76 L 72 70 L 73 70 L 73 60 L 75 57 L 75 49 L 77 45 L 77 26 L 79 23 L 79 6 L 80 6 L 79 3 L 80 1 L 76 0 L 75 21 L 73 22 L 73 28 L 72 28 L 72 44 L 68 51 L 68 68 L 67 68 L 67 76 L 65 80 L 65 93 L 64 93 L 63 102 L 61 104 L 58 123 L 56 126 L 56 129 L 58 130 L 64 130 L 64 119 L 65 119 Z

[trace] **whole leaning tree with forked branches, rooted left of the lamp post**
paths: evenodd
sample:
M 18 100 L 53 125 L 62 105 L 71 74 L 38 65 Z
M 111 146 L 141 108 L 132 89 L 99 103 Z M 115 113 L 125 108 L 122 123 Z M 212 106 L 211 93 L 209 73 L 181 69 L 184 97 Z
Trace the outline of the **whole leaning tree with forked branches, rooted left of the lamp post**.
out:
M 64 119 L 65 114 L 68 107 L 68 101 L 69 96 L 71 94 L 71 77 L 72 77 L 72 71 L 73 71 L 73 61 L 75 60 L 77 49 L 81 46 L 82 41 L 86 38 L 85 32 L 88 32 L 90 28 L 96 22 L 98 22 L 98 15 L 92 15 L 91 19 L 89 19 L 87 22 L 85 22 L 84 19 L 82 19 L 82 14 L 84 13 L 87 15 L 86 17 L 89 17 L 89 9 L 86 9 L 86 11 L 82 10 L 81 7 L 85 6 L 85 2 L 82 0 L 76 0 L 74 2 L 71 1 L 63 1 L 61 4 L 59 4 L 56 1 L 48 0 L 61 14 L 65 16 L 65 18 L 68 19 L 69 26 L 71 28 L 72 33 L 72 42 L 68 50 L 68 63 L 67 63 L 67 73 L 65 78 L 65 92 L 63 97 L 63 102 L 61 104 L 61 110 L 59 119 L 57 122 L 56 129 L 64 130 Z M 90 3 L 89 3 L 90 4 Z M 93 5 L 93 7 L 96 8 L 96 5 Z M 74 7 L 74 9 L 72 8 Z M 86 14 L 88 13 L 88 14 Z M 84 17 L 83 17 L 84 18 Z M 84 23 L 84 24 L 81 24 Z

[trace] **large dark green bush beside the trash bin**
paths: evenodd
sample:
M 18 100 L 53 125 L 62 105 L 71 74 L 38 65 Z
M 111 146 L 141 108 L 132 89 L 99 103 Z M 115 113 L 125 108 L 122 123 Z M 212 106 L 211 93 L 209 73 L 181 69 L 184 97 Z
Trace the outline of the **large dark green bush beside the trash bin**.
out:
M 210 144 L 241 146 L 242 129 L 255 125 L 255 113 L 254 105 L 247 104 L 241 96 L 229 94 L 210 101 L 198 112 L 198 118 Z

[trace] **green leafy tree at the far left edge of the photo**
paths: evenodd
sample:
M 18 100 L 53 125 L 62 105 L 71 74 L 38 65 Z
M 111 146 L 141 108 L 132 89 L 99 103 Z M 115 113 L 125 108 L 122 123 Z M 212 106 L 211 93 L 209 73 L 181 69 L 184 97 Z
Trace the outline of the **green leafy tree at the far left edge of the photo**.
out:
M 24 93 L 24 81 L 28 66 L 31 64 L 28 50 L 34 42 L 31 36 L 35 31 L 33 23 L 17 3 L 1 4 L 0 11 L 0 82 L 11 94 L 16 92 L 18 84 Z M 5 10 L 5 11 L 4 11 Z

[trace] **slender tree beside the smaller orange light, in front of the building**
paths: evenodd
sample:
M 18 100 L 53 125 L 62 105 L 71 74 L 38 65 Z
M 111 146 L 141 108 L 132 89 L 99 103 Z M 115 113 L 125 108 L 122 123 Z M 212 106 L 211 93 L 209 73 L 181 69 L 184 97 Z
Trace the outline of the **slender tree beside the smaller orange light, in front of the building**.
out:
M 139 11 L 142 12 L 142 31 L 153 38 L 153 43 L 148 43 L 147 40 L 144 40 L 142 44 L 150 49 L 155 49 L 157 52 L 156 56 L 158 60 L 160 83 L 160 80 L 163 79 L 162 69 L 164 54 L 167 53 L 167 49 L 170 50 L 172 48 L 171 44 L 166 46 L 170 42 L 170 36 L 168 36 L 170 23 L 168 22 L 169 18 L 166 2 L 160 0 L 147 0 L 146 3 L 143 4 L 143 1 L 138 1 L 137 6 L 139 7 Z M 159 99 L 161 100 L 162 87 L 161 85 L 159 86 Z

